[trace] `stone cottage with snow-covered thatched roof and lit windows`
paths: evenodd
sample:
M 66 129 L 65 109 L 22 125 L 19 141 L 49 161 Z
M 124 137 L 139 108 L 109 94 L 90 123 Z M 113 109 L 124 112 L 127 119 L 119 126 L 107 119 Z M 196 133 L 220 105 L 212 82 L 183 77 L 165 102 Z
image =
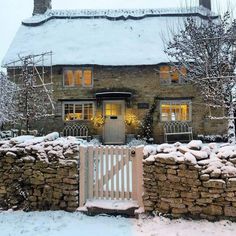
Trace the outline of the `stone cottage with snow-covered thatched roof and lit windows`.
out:
M 199 4 L 188 10 L 53 10 L 51 0 L 34 0 L 33 16 L 22 21 L 3 64 L 52 51 L 56 110 L 43 123 L 48 132 L 82 123 L 105 144 L 123 144 L 156 101 L 157 142 L 167 121 L 188 122 L 194 136 L 224 134 L 223 121 L 207 118 L 199 91 L 182 83 L 185 69 L 175 70 L 164 53 L 170 27 L 212 14 L 210 0 Z

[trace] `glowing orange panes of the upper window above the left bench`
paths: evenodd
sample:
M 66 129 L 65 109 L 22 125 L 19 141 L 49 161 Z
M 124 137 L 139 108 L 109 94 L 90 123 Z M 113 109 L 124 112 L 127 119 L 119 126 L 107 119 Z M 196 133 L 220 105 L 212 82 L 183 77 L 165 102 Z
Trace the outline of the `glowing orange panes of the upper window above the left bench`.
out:
M 93 74 L 91 69 L 65 69 L 64 86 L 92 87 Z

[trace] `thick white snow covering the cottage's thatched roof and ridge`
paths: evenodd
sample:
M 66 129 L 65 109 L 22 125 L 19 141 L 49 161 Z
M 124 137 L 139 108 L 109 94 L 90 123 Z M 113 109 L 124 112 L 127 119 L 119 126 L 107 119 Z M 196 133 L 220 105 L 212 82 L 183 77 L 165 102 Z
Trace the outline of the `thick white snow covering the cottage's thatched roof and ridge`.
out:
M 169 27 L 179 27 L 186 17 L 183 14 L 193 12 L 202 16 L 209 14 L 201 7 L 188 11 L 49 10 L 22 22 L 2 64 L 19 59 L 19 55 L 46 51 L 52 51 L 53 65 L 118 66 L 167 62 L 163 37 L 168 35 Z M 123 18 L 114 18 L 121 16 Z

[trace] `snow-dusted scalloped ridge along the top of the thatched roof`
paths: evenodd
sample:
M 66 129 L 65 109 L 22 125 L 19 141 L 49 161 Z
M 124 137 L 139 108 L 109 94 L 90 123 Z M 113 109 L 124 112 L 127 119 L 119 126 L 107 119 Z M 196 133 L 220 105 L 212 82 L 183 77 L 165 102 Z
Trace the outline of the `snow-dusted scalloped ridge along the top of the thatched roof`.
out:
M 202 17 L 217 17 L 212 11 L 202 7 L 189 8 L 143 8 L 143 9 L 77 9 L 77 10 L 57 10 L 50 9 L 44 14 L 34 15 L 23 20 L 22 24 L 28 26 L 41 25 L 50 19 L 60 18 L 106 18 L 108 20 L 143 19 L 154 16 L 171 15 L 198 15 Z

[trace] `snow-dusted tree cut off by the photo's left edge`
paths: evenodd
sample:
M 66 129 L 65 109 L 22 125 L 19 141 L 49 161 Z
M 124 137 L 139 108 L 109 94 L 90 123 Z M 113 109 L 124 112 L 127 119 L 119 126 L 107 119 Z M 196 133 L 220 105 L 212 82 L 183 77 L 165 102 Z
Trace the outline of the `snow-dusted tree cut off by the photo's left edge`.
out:
M 17 86 L 0 72 L 0 129 L 4 123 L 13 122 L 17 115 L 14 94 Z

